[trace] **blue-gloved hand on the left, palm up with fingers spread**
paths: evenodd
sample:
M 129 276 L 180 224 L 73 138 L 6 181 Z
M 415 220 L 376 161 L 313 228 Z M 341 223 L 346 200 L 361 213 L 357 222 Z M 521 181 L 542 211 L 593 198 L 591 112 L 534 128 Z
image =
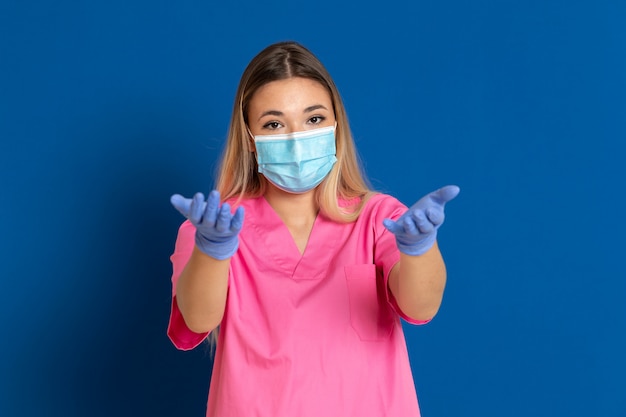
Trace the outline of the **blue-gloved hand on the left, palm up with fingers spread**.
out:
M 207 201 L 202 193 L 193 198 L 174 194 L 172 205 L 196 227 L 196 246 L 215 259 L 228 259 L 239 247 L 239 231 L 243 226 L 243 207 L 237 207 L 231 214 L 230 205 L 220 207 L 220 193 L 211 191 Z

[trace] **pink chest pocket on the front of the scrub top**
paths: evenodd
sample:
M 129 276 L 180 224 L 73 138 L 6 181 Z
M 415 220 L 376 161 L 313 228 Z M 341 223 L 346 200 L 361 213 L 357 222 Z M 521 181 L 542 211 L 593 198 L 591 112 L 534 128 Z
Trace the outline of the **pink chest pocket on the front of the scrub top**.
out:
M 367 342 L 389 338 L 394 315 L 387 303 L 382 277 L 377 279 L 374 264 L 351 265 L 344 268 L 350 303 L 350 324 Z

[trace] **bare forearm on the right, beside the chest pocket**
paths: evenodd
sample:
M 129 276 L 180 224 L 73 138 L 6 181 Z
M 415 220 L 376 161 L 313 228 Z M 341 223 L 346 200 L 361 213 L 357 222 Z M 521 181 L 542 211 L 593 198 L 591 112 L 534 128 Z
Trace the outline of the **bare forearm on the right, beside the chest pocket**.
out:
M 389 290 L 404 314 L 430 320 L 439 311 L 446 285 L 446 267 L 437 243 L 419 256 L 401 253 L 391 270 Z

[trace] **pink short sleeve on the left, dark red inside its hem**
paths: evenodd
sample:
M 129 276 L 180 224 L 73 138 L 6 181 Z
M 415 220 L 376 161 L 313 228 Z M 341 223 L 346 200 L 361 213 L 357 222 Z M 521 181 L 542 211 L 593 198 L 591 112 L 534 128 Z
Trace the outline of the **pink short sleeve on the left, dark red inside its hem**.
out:
M 195 227 L 189 220 L 186 220 L 178 229 L 174 253 L 170 257 L 172 261 L 172 308 L 167 335 L 174 346 L 180 350 L 195 348 L 208 335 L 208 333 L 195 333 L 187 327 L 176 302 L 176 283 L 193 252 L 195 233 Z

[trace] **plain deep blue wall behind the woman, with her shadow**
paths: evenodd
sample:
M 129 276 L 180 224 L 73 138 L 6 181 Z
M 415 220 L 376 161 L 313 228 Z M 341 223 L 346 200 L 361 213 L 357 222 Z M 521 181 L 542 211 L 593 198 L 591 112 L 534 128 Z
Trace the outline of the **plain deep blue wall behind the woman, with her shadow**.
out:
M 368 5 L 369 4 L 369 5 Z M 626 415 L 626 2 L 0 2 L 0 415 L 201 416 L 166 337 L 169 196 L 208 191 L 248 61 L 295 39 L 365 168 L 445 184 L 425 417 Z

